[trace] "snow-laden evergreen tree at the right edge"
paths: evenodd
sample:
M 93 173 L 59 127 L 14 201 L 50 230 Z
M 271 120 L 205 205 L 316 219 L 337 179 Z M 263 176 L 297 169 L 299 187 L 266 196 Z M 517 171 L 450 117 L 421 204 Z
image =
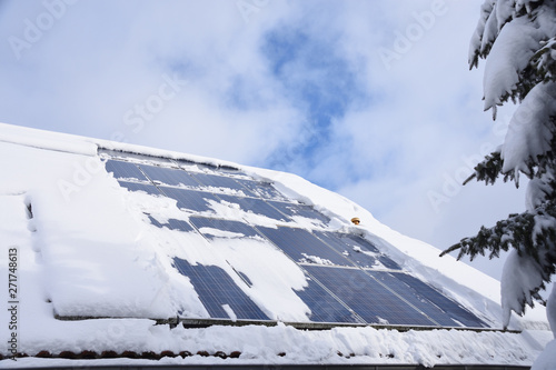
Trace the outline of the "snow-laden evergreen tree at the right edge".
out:
M 443 254 L 459 250 L 458 258 L 473 260 L 510 250 L 500 281 L 507 327 L 510 311 L 523 314 L 526 306 L 542 301 L 538 291 L 556 267 L 556 0 L 486 0 L 470 42 L 470 69 L 479 59 L 486 60 L 485 110 L 496 120 L 498 106 L 512 100 L 518 107 L 504 143 L 467 181 L 489 184 L 503 178 L 519 186 L 525 174 L 530 179 L 526 211 L 483 227 Z M 556 301 L 556 292 L 549 300 Z M 556 311 L 547 312 L 556 333 Z

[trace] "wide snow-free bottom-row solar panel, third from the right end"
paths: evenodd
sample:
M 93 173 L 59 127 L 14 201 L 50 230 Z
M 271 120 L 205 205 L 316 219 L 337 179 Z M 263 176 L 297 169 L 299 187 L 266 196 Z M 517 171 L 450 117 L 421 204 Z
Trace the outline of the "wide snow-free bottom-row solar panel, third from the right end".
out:
M 322 266 L 304 268 L 368 323 L 436 326 L 363 270 Z

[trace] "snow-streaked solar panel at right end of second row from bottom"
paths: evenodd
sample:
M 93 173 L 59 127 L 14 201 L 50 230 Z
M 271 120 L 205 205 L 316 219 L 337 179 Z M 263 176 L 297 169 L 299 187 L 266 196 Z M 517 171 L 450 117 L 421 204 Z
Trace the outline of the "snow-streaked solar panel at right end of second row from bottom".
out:
M 360 268 L 400 270 L 396 262 L 380 254 L 375 246 L 358 236 L 330 231 L 315 231 L 315 236 Z

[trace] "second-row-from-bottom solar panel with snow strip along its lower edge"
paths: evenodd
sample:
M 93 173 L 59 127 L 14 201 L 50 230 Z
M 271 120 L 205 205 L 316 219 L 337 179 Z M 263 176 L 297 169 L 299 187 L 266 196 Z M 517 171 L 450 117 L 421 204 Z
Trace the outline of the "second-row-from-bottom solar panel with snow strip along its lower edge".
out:
M 297 262 L 354 266 L 346 257 L 304 229 L 259 227 L 258 230 Z

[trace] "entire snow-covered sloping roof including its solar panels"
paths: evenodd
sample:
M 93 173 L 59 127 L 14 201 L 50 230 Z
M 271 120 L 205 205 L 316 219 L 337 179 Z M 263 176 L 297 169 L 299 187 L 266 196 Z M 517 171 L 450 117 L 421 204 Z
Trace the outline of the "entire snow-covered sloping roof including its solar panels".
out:
M 529 366 L 552 339 L 542 308 L 503 332 L 498 281 L 290 173 L 9 124 L 0 171 L 9 367 Z

